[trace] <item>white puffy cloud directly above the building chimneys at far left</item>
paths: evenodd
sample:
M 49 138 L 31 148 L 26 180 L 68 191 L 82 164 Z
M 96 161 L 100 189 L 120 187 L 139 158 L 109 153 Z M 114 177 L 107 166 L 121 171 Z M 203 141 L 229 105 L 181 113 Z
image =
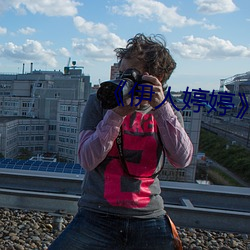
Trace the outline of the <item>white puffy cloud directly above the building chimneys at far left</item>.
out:
M 13 42 L 0 45 L 0 58 L 12 58 L 16 62 L 42 62 L 51 67 L 57 65 L 55 53 L 46 50 L 40 42 L 34 40 L 26 40 L 20 46 Z

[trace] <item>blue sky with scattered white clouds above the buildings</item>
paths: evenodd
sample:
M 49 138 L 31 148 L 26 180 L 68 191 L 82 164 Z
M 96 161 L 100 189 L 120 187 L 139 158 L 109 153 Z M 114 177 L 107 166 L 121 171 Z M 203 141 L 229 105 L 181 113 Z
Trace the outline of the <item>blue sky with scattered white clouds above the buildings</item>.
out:
M 0 73 L 76 61 L 99 84 L 115 48 L 137 33 L 161 34 L 177 63 L 172 90 L 218 90 L 250 71 L 249 9 L 249 0 L 0 0 Z

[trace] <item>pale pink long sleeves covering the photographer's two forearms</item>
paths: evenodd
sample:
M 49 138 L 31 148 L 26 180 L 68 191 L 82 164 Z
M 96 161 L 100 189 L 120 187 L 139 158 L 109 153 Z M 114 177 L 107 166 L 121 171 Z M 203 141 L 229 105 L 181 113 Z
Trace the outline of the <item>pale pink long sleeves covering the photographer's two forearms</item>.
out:
M 171 105 L 166 102 L 151 111 L 157 122 L 168 161 L 176 168 L 188 166 L 192 160 L 193 145 Z M 180 114 L 179 114 L 180 118 Z M 96 130 L 82 130 L 79 135 L 78 157 L 86 171 L 95 169 L 111 150 L 124 117 L 108 110 Z

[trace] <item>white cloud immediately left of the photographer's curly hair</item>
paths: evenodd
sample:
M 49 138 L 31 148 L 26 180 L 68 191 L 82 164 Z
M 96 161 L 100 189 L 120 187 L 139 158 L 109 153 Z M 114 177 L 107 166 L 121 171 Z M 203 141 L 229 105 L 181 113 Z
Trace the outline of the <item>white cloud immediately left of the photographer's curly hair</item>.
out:
M 109 31 L 102 23 L 93 23 L 83 17 L 74 17 L 77 30 L 88 36 L 85 39 L 72 39 L 72 47 L 79 55 L 92 58 L 96 61 L 109 61 L 114 59 L 114 49 L 124 47 L 126 41 Z

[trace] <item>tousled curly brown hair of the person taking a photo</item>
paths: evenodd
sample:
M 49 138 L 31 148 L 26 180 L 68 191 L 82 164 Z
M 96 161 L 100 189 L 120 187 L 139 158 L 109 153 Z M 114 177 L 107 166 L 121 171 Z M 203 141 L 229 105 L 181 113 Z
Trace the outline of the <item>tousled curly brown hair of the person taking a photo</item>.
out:
M 176 67 L 176 62 L 166 48 L 166 42 L 162 35 L 145 36 L 136 34 L 129 39 L 126 48 L 115 49 L 117 59 L 136 58 L 143 62 L 144 70 L 150 75 L 163 77 L 165 83 Z

